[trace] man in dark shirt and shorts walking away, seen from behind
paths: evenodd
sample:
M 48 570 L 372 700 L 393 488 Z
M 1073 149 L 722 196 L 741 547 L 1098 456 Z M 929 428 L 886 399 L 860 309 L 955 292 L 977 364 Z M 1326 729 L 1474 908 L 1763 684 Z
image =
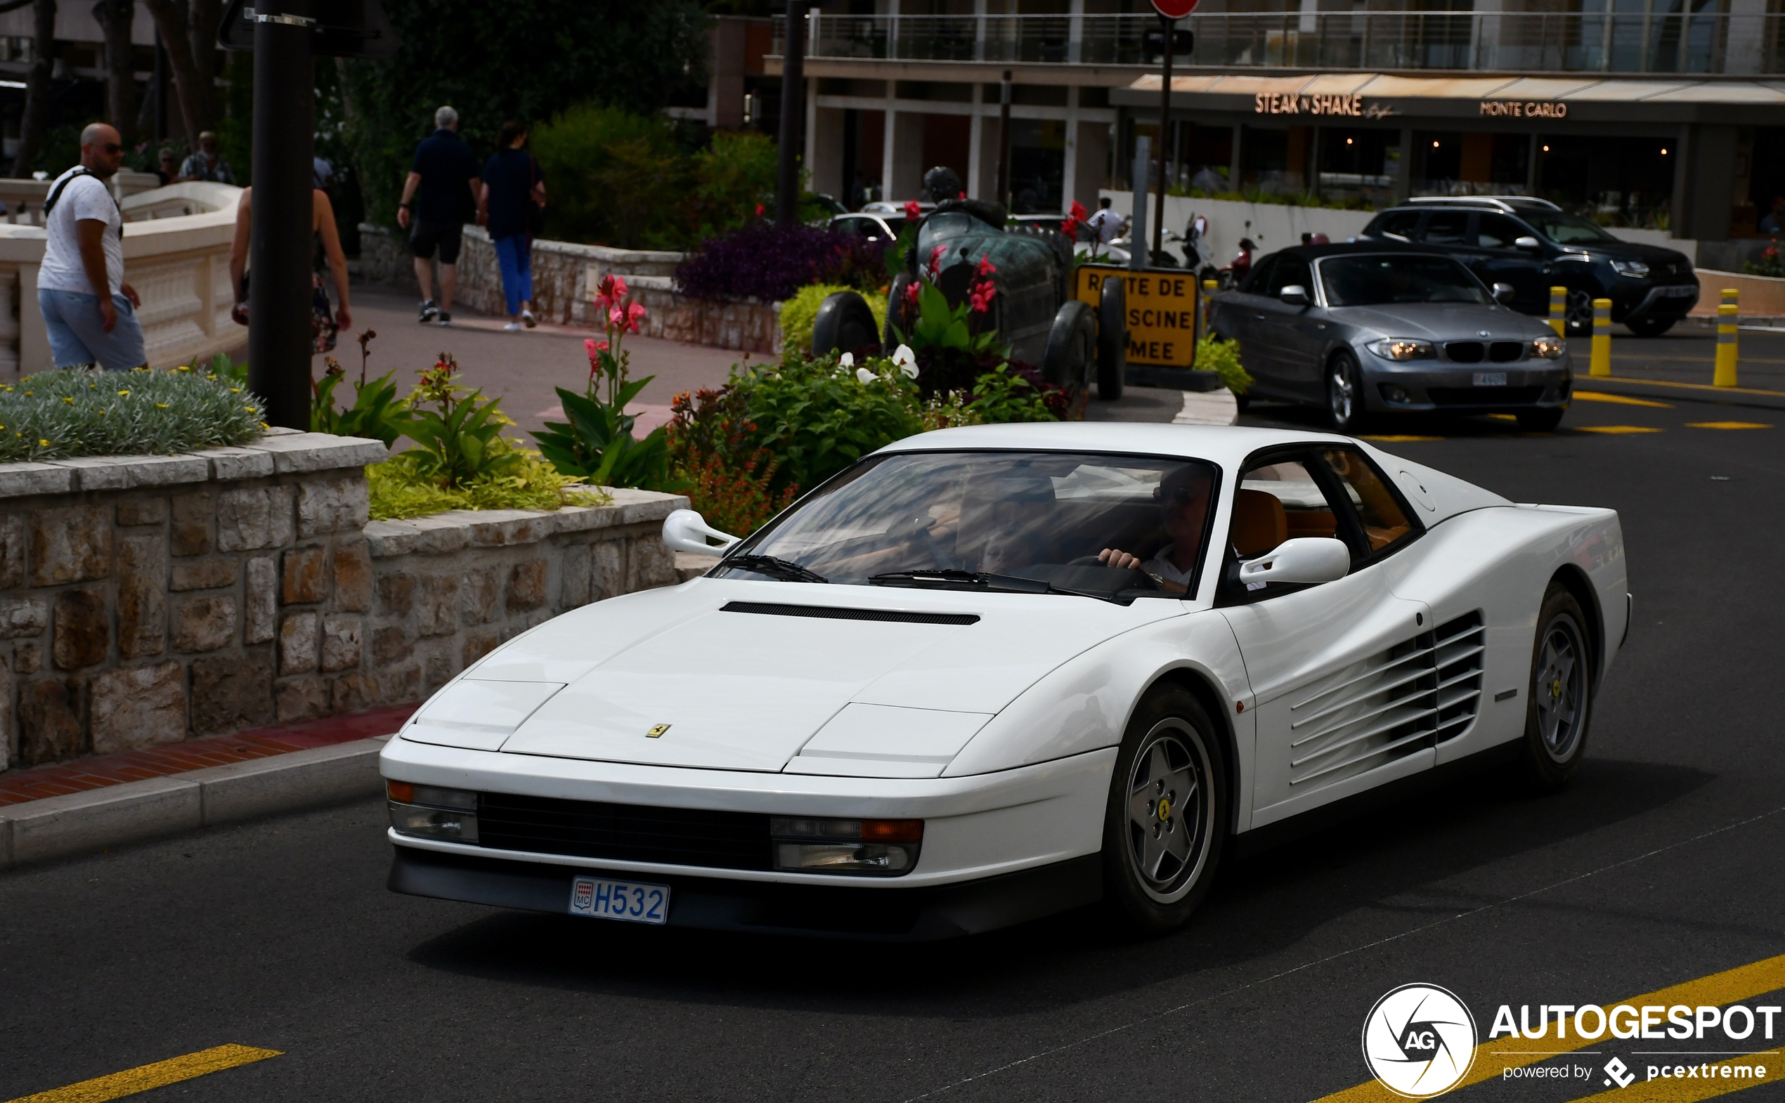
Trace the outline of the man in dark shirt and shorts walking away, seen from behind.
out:
M 409 230 L 409 252 L 421 284 L 421 321 L 452 323 L 452 293 L 459 287 L 459 232 L 477 207 L 482 178 L 471 146 L 459 137 L 459 112 L 434 112 L 434 134 L 416 146 L 416 161 L 403 180 L 403 203 L 396 225 Z M 434 250 L 441 253 L 441 300 L 434 303 Z

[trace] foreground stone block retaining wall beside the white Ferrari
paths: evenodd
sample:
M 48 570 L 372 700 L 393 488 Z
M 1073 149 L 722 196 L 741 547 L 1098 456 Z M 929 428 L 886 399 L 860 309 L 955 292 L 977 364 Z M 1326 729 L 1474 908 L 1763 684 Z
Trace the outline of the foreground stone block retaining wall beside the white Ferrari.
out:
M 378 441 L 273 430 L 0 464 L 0 769 L 419 701 L 514 634 L 666 585 L 685 498 L 368 523 Z

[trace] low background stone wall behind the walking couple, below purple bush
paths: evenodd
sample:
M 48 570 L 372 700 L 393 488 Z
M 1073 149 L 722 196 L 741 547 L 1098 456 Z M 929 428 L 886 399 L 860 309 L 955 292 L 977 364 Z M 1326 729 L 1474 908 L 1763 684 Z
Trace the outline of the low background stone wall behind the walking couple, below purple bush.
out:
M 402 241 L 389 230 L 361 225 L 361 277 L 371 282 L 416 287 L 414 270 Z M 543 321 L 594 328 L 594 287 L 607 273 L 623 275 L 634 298 L 650 314 L 648 337 L 780 353 L 780 305 L 755 298 L 710 302 L 677 294 L 671 273 L 682 253 L 621 250 L 605 245 L 534 241 L 534 312 Z M 464 227 L 459 250 L 455 302 L 484 314 L 505 314 L 496 246 L 482 227 Z

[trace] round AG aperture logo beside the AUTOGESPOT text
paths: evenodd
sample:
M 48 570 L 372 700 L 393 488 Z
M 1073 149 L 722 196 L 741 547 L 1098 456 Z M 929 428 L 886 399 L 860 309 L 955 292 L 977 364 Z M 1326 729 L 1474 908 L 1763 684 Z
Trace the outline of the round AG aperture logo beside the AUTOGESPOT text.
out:
M 1474 1016 L 1446 989 L 1401 985 L 1364 1019 L 1364 1062 L 1398 1096 L 1444 1094 L 1474 1064 Z

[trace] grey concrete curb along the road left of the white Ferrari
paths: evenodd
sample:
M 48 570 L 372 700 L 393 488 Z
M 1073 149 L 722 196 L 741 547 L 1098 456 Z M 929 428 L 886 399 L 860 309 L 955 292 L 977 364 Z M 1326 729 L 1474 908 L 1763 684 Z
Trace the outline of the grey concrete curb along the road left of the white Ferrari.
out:
M 380 791 L 389 735 L 0 807 L 0 869 Z

